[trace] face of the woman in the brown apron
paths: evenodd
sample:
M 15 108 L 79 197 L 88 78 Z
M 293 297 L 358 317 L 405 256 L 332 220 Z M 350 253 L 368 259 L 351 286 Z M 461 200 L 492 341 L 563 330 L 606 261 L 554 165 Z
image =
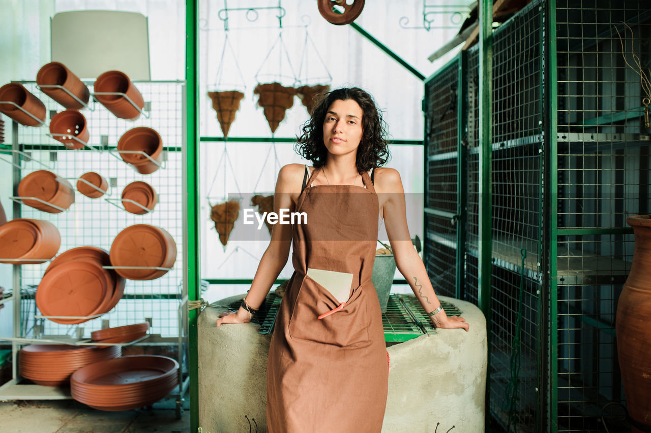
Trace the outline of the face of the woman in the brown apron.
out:
M 357 150 L 364 133 L 362 114 L 354 99 L 337 99 L 330 105 L 324 119 L 324 144 L 330 153 L 345 155 Z

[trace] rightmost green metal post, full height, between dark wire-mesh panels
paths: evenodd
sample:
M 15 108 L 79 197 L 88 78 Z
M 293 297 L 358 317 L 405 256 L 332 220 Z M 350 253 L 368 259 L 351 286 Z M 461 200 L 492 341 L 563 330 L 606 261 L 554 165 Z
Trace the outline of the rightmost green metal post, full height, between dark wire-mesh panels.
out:
M 559 402 L 559 387 L 558 387 L 558 365 L 559 365 L 559 330 L 558 330 L 558 280 L 557 280 L 557 246 L 558 246 L 558 190 L 559 179 L 557 177 L 558 170 L 558 148 L 557 148 L 557 131 L 558 131 L 558 116 L 557 116 L 557 59 L 556 59 L 556 2 L 546 2 L 546 25 L 545 31 L 547 38 L 544 41 L 545 51 L 547 53 L 546 59 L 546 88 L 547 98 L 546 106 L 548 107 L 547 127 L 546 127 L 546 145 L 548 155 L 547 164 L 549 170 L 549 202 L 547 209 L 549 209 L 549 295 L 544 299 L 549 299 L 549 412 L 547 418 L 548 431 L 555 433 L 559 430 L 558 425 L 558 402 Z M 545 384 L 541 384 L 545 385 Z

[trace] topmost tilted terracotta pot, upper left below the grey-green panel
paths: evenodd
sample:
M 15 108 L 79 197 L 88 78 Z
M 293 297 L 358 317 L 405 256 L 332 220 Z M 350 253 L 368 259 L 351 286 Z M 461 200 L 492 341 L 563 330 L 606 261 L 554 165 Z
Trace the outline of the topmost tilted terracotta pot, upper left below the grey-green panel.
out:
M 90 92 L 88 87 L 75 75 L 70 72 L 68 68 L 62 63 L 51 62 L 44 64 L 36 74 L 36 84 L 38 86 L 44 85 L 58 85 L 63 86 L 83 103 L 88 104 L 90 99 Z M 66 109 L 81 110 L 85 106 L 75 98 L 72 98 L 65 90 L 58 87 L 40 87 L 41 92 L 54 99 Z

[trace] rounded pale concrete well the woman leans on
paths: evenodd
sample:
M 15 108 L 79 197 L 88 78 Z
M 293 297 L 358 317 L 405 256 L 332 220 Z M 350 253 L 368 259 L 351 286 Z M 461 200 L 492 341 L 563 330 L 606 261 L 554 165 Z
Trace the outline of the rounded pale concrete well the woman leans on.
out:
M 243 295 L 215 304 L 228 305 Z M 446 298 L 470 331 L 437 330 L 387 348 L 391 357 L 383 433 L 484 431 L 486 321 L 473 304 Z M 255 324 L 215 321 L 224 308 L 199 315 L 199 426 L 203 432 L 266 430 L 266 369 L 271 335 Z M 255 421 L 254 421 L 255 420 Z

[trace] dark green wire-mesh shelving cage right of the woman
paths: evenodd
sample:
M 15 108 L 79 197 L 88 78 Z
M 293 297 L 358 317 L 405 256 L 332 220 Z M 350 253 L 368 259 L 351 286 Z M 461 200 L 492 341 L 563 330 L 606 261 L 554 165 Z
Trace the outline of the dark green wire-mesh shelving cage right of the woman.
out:
M 646 2 L 541 0 L 426 81 L 428 272 L 434 281 L 442 269 L 456 269 L 456 285 L 437 289 L 483 305 L 487 401 L 509 431 L 626 428 L 605 408 L 625 404 L 616 300 L 633 252 L 626 217 L 649 212 L 651 178 L 644 94 L 615 31 L 624 33 L 622 21 L 648 64 Z M 492 51 L 483 73 L 480 49 Z M 443 110 L 459 83 L 465 89 L 454 119 Z M 482 98 L 490 100 L 488 125 Z M 456 152 L 454 142 L 462 143 Z M 490 210 L 481 209 L 486 194 Z M 443 218 L 450 216 L 465 218 L 463 236 Z M 480 256 L 482 230 L 490 231 L 488 259 Z M 489 283 L 480 277 L 486 269 Z M 482 299 L 490 300 L 487 308 Z

